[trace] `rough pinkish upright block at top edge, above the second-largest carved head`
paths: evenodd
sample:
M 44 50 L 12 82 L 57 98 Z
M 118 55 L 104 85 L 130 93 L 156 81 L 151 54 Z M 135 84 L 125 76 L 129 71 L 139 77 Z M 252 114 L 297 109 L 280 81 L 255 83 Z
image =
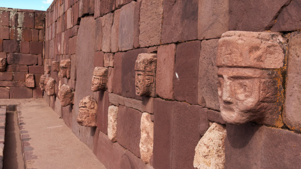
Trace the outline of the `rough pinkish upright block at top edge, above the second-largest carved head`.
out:
M 163 0 L 142 1 L 139 24 L 139 45 L 141 47 L 160 45 L 163 23 L 162 15 Z

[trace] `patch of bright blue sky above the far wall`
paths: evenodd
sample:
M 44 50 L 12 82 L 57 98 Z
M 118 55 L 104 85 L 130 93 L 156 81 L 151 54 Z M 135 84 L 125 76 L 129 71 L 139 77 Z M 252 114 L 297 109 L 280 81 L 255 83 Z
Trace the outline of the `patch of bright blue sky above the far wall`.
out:
M 0 0 L 0 7 L 46 11 L 53 0 Z

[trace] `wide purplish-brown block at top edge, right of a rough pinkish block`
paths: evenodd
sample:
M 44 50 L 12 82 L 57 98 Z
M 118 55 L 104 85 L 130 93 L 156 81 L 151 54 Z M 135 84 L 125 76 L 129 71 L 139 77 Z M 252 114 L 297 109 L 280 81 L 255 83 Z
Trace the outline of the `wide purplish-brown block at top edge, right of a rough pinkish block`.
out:
M 198 1 L 164 1 L 162 44 L 197 39 Z

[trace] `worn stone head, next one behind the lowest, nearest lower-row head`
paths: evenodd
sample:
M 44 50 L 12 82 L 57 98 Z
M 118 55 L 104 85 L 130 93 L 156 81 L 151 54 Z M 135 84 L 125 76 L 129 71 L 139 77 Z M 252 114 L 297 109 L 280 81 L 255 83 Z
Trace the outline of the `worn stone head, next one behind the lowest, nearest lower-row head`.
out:
M 58 97 L 60 99 L 62 106 L 67 106 L 69 104 L 73 104 L 74 102 L 74 93 L 70 86 L 67 86 L 66 84 L 63 84 L 62 86 L 59 86 L 59 92 Z

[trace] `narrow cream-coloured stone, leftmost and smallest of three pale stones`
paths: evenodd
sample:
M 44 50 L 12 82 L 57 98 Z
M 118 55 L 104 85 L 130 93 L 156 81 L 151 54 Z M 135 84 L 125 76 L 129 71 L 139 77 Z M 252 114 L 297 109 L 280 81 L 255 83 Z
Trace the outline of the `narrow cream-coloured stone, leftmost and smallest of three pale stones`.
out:
M 117 106 L 110 106 L 108 110 L 108 137 L 111 141 L 117 141 Z

